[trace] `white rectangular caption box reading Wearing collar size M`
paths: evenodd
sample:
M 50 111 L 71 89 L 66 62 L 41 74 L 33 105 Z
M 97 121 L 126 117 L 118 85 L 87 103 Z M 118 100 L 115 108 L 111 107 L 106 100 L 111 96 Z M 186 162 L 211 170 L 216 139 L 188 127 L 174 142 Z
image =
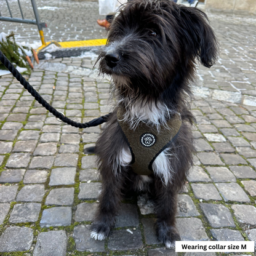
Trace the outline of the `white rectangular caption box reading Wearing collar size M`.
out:
M 254 252 L 254 241 L 176 241 L 175 252 Z

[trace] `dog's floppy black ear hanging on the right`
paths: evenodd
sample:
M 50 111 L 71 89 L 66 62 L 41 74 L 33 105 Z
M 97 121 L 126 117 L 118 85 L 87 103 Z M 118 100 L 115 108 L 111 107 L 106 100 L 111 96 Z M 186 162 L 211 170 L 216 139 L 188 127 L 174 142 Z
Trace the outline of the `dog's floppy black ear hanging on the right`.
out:
M 210 68 L 218 57 L 218 42 L 209 25 L 207 15 L 196 7 L 178 6 L 180 8 L 180 26 L 182 41 L 186 53 L 198 58 L 202 65 Z

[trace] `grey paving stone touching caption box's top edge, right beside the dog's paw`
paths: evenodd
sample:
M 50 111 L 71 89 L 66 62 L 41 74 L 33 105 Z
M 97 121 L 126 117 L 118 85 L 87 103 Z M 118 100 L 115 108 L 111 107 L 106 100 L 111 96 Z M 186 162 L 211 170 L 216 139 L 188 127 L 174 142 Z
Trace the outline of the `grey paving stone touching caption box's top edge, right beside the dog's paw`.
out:
M 199 218 L 176 218 L 176 227 L 180 233 L 182 241 L 209 240 Z

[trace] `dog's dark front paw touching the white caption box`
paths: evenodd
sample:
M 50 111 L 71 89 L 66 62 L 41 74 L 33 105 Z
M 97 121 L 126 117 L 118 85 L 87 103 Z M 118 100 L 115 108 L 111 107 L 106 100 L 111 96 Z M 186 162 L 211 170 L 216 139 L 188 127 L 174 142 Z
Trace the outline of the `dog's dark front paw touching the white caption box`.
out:
M 163 242 L 166 248 L 174 248 L 175 241 L 180 241 L 180 235 L 173 226 L 158 225 L 157 234 L 159 241 Z

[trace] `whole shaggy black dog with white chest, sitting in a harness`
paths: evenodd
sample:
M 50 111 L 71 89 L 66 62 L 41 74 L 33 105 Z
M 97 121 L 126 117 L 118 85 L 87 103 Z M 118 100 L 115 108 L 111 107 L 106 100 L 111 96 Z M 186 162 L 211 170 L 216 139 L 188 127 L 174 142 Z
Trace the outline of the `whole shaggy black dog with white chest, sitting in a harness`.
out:
M 98 57 L 113 78 L 116 108 L 96 145 L 102 176 L 92 238 L 110 234 L 122 194 L 148 190 L 160 241 L 172 247 L 177 193 L 193 165 L 190 112 L 196 59 L 214 65 L 218 44 L 206 14 L 170 0 L 127 2 Z

